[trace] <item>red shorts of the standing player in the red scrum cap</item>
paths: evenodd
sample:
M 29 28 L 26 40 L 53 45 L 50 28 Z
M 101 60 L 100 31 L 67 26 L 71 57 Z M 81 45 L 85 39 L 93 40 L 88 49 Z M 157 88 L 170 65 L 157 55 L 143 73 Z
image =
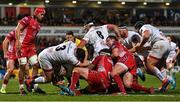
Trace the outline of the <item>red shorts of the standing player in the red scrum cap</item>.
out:
M 36 47 L 35 45 L 30 45 L 21 48 L 21 56 L 19 57 L 31 57 L 33 55 L 36 55 Z

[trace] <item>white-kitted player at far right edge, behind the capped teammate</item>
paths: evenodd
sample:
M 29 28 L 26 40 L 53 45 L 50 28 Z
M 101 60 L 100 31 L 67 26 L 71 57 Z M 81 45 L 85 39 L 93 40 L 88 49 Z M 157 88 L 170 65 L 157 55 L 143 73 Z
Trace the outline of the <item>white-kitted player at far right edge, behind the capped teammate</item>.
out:
M 176 62 L 176 57 L 178 56 L 180 50 L 176 43 L 172 42 L 172 36 L 167 36 L 167 39 L 170 43 L 170 53 L 166 59 L 166 67 L 167 67 L 167 76 L 171 80 L 172 87 L 171 89 L 175 89 L 176 81 L 175 81 L 175 73 L 173 72 L 174 64 Z

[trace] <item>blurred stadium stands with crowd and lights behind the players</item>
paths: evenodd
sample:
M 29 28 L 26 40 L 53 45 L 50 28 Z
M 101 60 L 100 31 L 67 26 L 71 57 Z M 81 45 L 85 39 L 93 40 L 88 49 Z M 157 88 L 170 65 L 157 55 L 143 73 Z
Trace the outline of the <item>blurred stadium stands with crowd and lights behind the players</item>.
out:
M 69 30 L 81 38 L 83 25 L 93 20 L 101 24 L 125 24 L 129 30 L 134 30 L 136 21 L 143 20 L 159 27 L 165 35 L 173 35 L 173 40 L 180 43 L 180 0 L 0 0 L 1 78 L 6 68 L 2 51 L 5 35 L 15 28 L 20 18 L 32 15 L 39 6 L 45 7 L 47 13 L 37 37 L 38 52 L 61 43 Z M 178 56 L 178 72 L 179 65 Z

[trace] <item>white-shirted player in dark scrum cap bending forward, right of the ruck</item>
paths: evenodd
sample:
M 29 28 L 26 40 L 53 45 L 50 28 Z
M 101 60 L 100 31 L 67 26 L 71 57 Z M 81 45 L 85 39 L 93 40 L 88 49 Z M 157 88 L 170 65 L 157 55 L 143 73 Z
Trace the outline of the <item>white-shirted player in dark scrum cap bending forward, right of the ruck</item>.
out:
M 138 21 L 135 24 L 135 29 L 142 36 L 142 41 L 136 49 L 141 49 L 146 42 L 152 46 L 147 57 L 146 66 L 149 71 L 162 81 L 160 91 L 165 92 L 170 81 L 162 75 L 155 65 L 159 63 L 161 58 L 169 51 L 170 44 L 167 39 L 161 35 L 159 29 L 150 24 L 144 24 L 144 22 Z

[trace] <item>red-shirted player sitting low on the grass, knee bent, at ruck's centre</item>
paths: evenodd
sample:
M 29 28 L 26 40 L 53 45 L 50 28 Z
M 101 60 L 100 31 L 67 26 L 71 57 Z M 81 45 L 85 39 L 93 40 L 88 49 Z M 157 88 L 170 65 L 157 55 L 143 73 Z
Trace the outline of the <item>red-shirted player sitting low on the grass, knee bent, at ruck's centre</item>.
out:
M 113 61 L 110 57 L 109 49 L 102 49 L 100 54 L 95 57 L 93 62 L 87 68 L 76 67 L 73 70 L 69 88 L 63 86 L 61 86 L 61 88 L 64 92 L 67 92 L 68 95 L 74 95 L 76 83 L 80 76 L 82 76 L 88 82 L 88 92 L 106 92 L 111 84 L 110 72 L 112 66 Z

